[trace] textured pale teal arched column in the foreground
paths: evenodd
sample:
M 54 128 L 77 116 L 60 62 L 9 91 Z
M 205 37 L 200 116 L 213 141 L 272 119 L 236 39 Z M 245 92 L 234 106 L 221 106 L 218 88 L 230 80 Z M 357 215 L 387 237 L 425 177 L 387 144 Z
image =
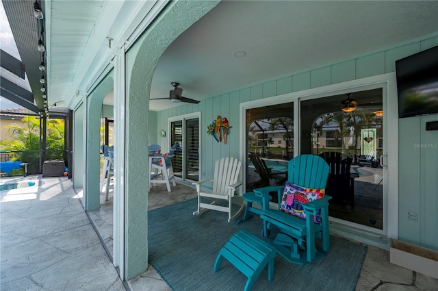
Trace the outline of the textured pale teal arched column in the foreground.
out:
M 149 144 L 149 92 L 157 62 L 185 29 L 201 18 L 218 1 L 170 2 L 158 19 L 128 51 L 125 152 L 125 253 L 126 278 L 148 267 L 147 251 L 147 155 Z M 139 126 L 141 124 L 141 126 Z

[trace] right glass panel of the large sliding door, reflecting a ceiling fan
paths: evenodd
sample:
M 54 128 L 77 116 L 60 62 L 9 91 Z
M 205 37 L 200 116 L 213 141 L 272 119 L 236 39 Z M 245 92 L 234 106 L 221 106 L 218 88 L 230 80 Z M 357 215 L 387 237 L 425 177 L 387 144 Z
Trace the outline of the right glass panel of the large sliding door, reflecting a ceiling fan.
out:
M 382 88 L 302 101 L 301 153 L 333 161 L 326 194 L 329 215 L 383 230 L 383 92 Z M 354 110 L 342 111 L 345 100 Z M 348 111 L 351 110 L 351 111 Z M 339 170 L 346 163 L 348 173 Z M 336 168 L 339 166 L 339 168 Z

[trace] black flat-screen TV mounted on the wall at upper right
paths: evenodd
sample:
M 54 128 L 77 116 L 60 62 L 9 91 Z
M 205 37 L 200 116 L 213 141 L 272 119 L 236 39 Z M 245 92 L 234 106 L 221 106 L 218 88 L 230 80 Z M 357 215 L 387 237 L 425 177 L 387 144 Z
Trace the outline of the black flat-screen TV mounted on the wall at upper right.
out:
M 396 61 L 398 117 L 438 113 L 438 46 Z

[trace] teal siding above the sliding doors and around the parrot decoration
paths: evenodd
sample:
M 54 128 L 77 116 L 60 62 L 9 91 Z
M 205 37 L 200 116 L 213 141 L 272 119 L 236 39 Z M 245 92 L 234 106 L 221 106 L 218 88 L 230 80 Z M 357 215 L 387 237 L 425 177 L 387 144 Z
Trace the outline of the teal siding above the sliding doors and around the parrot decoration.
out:
M 320 68 L 312 68 L 309 71 L 281 76 L 279 79 L 205 99 L 198 105 L 187 104 L 177 107 L 178 109 L 172 108 L 158 112 L 158 124 L 164 124 L 165 121 L 167 124 L 167 118 L 170 116 L 201 111 L 201 179 L 211 177 L 213 175 L 211 165 L 214 161 L 224 155 L 237 157 L 239 154 L 240 144 L 238 142 L 244 139 L 243 136 L 238 136 L 240 103 L 394 72 L 395 60 L 434 45 L 438 45 L 438 36 L 415 40 L 381 51 L 373 51 L 357 58 L 342 60 L 342 62 Z M 223 142 L 216 142 L 212 136 L 207 134 L 207 125 L 211 124 L 218 115 L 229 118 L 230 125 L 233 126 L 226 145 Z

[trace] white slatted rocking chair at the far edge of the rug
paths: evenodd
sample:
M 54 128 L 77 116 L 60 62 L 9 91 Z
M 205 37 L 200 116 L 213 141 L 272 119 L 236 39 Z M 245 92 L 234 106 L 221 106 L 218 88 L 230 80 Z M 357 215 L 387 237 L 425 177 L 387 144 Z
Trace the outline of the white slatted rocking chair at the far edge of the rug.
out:
M 224 157 L 216 161 L 214 166 L 214 178 L 204 179 L 192 184 L 196 185 L 198 192 L 198 210 L 193 212 L 193 215 L 202 214 L 207 210 L 217 210 L 228 213 L 228 222 L 236 218 L 244 209 L 244 201 L 242 197 L 236 194 L 236 188 L 242 185 L 239 179 L 240 168 L 242 163 L 234 157 Z M 201 186 L 208 181 L 213 181 L 213 189 L 210 192 L 203 191 Z M 211 203 L 205 203 L 204 200 L 213 200 Z M 218 201 L 227 201 L 227 205 L 216 205 Z M 240 206 L 240 209 L 231 214 L 233 201 Z

